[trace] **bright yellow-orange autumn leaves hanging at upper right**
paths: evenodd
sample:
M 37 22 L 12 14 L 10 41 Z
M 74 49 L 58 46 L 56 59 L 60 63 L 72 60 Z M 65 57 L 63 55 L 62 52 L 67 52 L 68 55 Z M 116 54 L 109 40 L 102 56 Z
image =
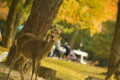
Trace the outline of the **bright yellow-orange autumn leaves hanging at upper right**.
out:
M 77 25 L 77 28 L 90 28 L 91 36 L 101 32 L 101 23 L 115 20 L 117 0 L 64 0 L 57 18 Z

